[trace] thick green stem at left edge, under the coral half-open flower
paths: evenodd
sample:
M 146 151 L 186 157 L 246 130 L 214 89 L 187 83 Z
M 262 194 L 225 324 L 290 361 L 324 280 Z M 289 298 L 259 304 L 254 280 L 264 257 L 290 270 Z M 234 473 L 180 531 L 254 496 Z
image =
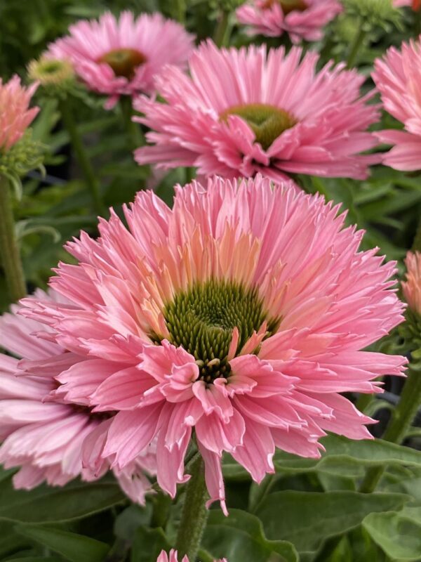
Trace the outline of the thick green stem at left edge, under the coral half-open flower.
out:
M 0 255 L 11 302 L 27 294 L 8 179 L 0 174 Z

